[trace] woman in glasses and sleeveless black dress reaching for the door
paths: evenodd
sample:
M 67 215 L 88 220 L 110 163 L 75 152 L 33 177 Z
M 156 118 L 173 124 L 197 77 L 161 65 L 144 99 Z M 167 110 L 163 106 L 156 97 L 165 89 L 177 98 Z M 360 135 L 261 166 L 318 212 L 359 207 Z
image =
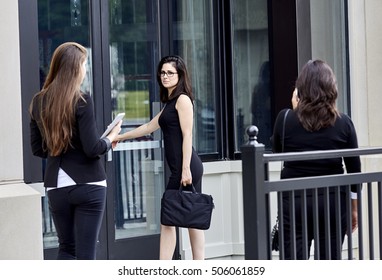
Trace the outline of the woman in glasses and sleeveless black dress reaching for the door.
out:
M 193 95 L 184 61 L 166 56 L 159 62 L 157 80 L 165 107 L 150 122 L 118 136 L 118 141 L 141 137 L 161 128 L 166 160 L 171 170 L 167 189 L 195 186 L 201 192 L 203 165 L 192 147 Z M 204 259 L 204 232 L 188 229 L 194 259 Z M 160 259 L 171 259 L 176 245 L 175 227 L 161 225 Z

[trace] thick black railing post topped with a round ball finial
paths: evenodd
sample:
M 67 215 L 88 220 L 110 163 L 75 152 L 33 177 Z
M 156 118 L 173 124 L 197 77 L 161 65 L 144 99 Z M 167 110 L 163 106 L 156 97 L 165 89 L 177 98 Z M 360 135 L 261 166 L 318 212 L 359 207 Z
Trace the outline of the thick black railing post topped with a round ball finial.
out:
M 257 143 L 258 129 L 246 129 L 249 140 L 241 147 L 246 260 L 266 260 L 269 255 L 267 203 L 264 192 L 264 145 Z

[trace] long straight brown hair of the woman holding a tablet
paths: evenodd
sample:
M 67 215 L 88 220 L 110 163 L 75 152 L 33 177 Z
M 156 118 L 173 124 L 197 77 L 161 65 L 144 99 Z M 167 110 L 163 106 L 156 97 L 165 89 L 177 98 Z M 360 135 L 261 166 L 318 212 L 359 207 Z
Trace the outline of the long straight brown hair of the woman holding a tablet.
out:
M 81 69 L 86 57 L 87 51 L 80 44 L 67 42 L 58 46 L 44 86 L 31 102 L 29 112 L 38 122 L 44 145 L 51 156 L 60 155 L 71 145 L 75 110 L 82 98 Z M 33 110 L 34 106 L 38 107 Z

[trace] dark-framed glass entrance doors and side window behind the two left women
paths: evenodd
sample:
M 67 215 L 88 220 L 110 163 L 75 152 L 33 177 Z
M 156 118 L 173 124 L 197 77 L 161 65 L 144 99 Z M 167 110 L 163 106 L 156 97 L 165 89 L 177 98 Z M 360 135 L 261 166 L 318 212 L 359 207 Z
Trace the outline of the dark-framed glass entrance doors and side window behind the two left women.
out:
M 159 110 L 156 67 L 164 55 L 184 58 L 195 96 L 193 143 L 199 154 L 219 158 L 216 99 L 221 88 L 219 10 L 212 0 L 19 0 L 24 111 L 48 73 L 54 50 L 75 41 L 88 50 L 82 90 L 95 106 L 100 134 L 120 112 L 123 130 L 149 121 Z M 27 129 L 29 116 L 23 115 Z M 42 185 L 44 162 L 24 144 L 24 180 Z M 161 132 L 119 143 L 105 157 L 107 209 L 99 259 L 159 257 L 160 198 L 166 182 Z M 36 184 L 35 184 L 36 183 Z M 41 193 L 44 195 L 43 187 Z M 56 256 L 57 238 L 45 197 L 44 257 Z M 187 245 L 185 245 L 187 246 Z M 180 246 L 177 246 L 179 248 Z M 184 252 L 182 252 L 184 256 Z M 180 258 L 179 250 L 175 258 Z

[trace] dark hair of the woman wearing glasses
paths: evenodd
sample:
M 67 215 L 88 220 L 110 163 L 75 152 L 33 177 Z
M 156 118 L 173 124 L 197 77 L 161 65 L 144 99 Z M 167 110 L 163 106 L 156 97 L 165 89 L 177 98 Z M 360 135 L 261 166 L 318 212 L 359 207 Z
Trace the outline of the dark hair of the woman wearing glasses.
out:
M 174 66 L 176 69 L 176 72 L 178 73 L 179 81 L 176 87 L 174 88 L 173 92 L 171 93 L 171 97 L 168 96 L 168 90 L 167 88 L 163 86 L 161 76 L 160 76 L 160 72 L 162 71 L 162 66 L 165 63 L 170 63 L 172 66 Z M 183 59 L 180 56 L 169 55 L 161 59 L 157 68 L 157 81 L 158 81 L 159 89 L 160 89 L 159 90 L 160 100 L 162 102 L 166 103 L 170 99 L 176 98 L 181 94 L 186 94 L 188 97 L 191 98 L 191 100 L 194 100 L 194 96 L 192 94 L 191 81 L 188 75 L 186 64 L 184 63 Z

